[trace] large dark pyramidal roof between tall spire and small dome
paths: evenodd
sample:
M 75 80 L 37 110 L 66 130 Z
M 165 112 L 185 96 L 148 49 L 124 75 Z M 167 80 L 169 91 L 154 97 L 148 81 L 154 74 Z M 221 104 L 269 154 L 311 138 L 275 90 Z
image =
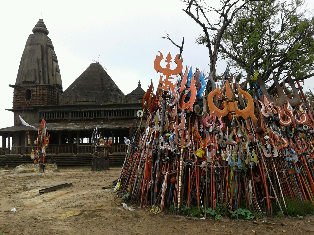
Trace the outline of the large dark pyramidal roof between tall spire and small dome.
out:
M 99 63 L 89 67 L 60 95 L 60 104 L 122 103 L 124 94 Z

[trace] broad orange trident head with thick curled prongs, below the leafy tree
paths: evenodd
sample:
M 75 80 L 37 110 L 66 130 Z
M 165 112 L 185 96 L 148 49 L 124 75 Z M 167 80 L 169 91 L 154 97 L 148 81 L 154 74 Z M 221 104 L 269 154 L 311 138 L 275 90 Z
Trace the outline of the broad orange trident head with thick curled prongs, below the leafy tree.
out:
M 224 117 L 224 116 L 227 116 L 229 114 L 229 120 L 231 120 L 233 115 L 236 115 L 237 118 L 239 118 L 239 116 L 241 116 L 245 119 L 247 117 L 251 117 L 252 119 L 257 120 L 257 118 L 254 115 L 253 98 L 251 97 L 251 95 L 248 92 L 243 91 L 240 87 L 238 90 L 238 95 L 243 95 L 247 99 L 247 106 L 244 109 L 239 109 L 238 108 L 238 101 L 234 101 L 232 99 L 233 93 L 232 93 L 229 82 L 226 82 L 225 96 L 228 99 L 227 99 L 227 101 L 222 102 L 222 105 L 224 107 L 223 109 L 217 108 L 215 106 L 214 101 L 213 101 L 213 98 L 215 95 L 219 95 L 219 97 L 222 97 L 222 94 L 221 94 L 221 91 L 220 91 L 218 85 L 217 85 L 216 90 L 211 91 L 208 94 L 207 102 L 208 102 L 208 108 L 209 108 L 210 113 L 215 112 L 217 117 Z

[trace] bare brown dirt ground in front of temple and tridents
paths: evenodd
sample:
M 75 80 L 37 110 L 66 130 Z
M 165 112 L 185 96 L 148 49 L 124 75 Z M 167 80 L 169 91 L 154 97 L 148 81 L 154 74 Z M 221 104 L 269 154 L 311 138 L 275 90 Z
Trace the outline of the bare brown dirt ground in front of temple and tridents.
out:
M 9 174 L 0 169 L 0 234 L 314 234 L 314 216 L 256 221 L 201 220 L 126 211 L 112 189 L 120 168 L 91 172 L 61 168 L 58 173 Z M 72 182 L 45 194 L 38 190 Z M 116 200 L 115 200 L 116 199 Z M 10 209 L 16 208 L 13 213 Z M 282 225 L 281 225 L 282 224 Z

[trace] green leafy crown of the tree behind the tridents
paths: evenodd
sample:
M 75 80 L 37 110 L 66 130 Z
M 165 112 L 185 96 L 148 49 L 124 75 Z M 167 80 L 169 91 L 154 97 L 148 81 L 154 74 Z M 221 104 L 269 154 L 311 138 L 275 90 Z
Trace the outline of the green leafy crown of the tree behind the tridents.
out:
M 246 71 L 246 87 L 254 70 L 264 81 L 272 71 L 277 78 L 286 72 L 295 80 L 314 76 L 314 18 L 304 1 L 251 1 L 241 8 L 226 28 L 221 58 Z M 203 43 L 204 36 L 197 39 Z M 273 86 L 270 87 L 272 90 Z

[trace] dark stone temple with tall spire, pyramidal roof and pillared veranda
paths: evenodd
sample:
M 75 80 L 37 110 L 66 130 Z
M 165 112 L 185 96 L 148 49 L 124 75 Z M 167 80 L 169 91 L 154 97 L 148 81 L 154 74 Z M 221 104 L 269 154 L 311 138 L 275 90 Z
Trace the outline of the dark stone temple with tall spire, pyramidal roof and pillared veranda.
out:
M 51 155 L 58 165 L 90 165 L 91 137 L 96 126 L 105 141 L 112 138 L 111 163 L 123 163 L 127 149 L 124 139 L 129 135 L 145 93 L 140 81 L 136 89 L 124 95 L 104 68 L 99 63 L 92 63 L 63 91 L 57 55 L 42 19 L 32 31 L 26 41 L 15 85 L 9 85 L 14 89 L 14 95 L 13 107 L 7 110 L 14 112 L 14 125 L 0 129 L 1 163 L 32 162 L 25 131 L 30 132 L 33 144 L 38 130 L 22 125 L 19 115 L 36 128 L 42 118 L 46 120 L 50 133 L 47 157 Z

